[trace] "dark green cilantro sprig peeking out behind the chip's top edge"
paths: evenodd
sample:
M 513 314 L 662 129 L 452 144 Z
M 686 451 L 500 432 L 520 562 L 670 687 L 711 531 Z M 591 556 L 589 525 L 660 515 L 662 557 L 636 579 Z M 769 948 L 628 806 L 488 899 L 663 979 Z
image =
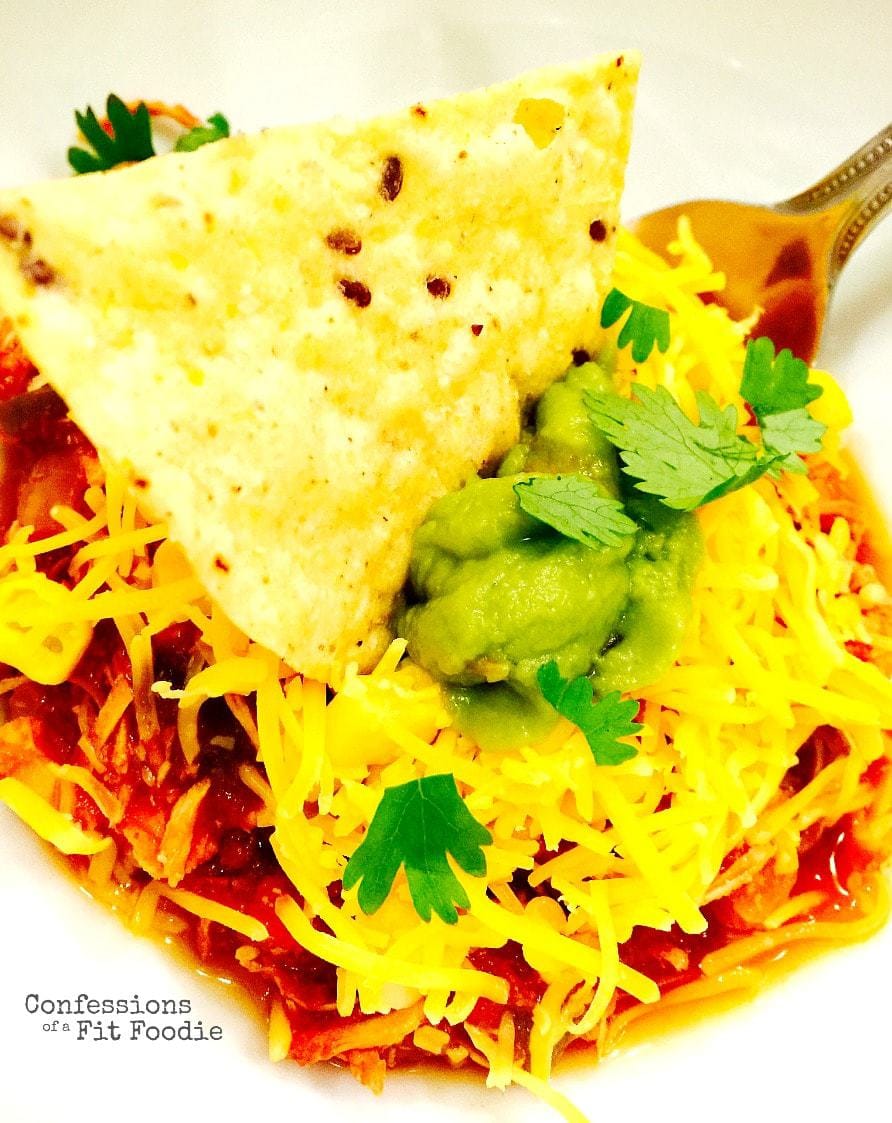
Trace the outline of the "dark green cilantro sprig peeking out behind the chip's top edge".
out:
M 130 110 L 115 93 L 106 101 L 108 130 L 88 106 L 82 113 L 75 110 L 74 119 L 88 148 L 69 148 L 69 164 L 75 174 L 107 172 L 119 164 L 134 164 L 155 155 L 152 138 L 152 116 L 148 107 L 140 101 Z M 174 145 L 174 152 L 194 152 L 202 145 L 222 140 L 229 136 L 229 121 L 222 113 L 212 113 L 203 125 L 197 125 L 184 133 Z

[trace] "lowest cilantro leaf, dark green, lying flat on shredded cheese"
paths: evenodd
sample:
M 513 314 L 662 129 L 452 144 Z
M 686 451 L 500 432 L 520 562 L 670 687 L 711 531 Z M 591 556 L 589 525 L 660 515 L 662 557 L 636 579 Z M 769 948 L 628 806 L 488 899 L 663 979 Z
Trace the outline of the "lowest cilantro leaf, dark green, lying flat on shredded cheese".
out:
M 450 853 L 474 877 L 486 873 L 482 846 L 492 836 L 471 814 L 452 773 L 412 779 L 384 791 L 365 838 L 344 870 L 344 888 L 359 885 L 359 907 L 370 915 L 386 901 L 400 866 L 418 915 L 431 911 L 447 924 L 458 920 L 455 906 L 470 901 L 449 867 Z

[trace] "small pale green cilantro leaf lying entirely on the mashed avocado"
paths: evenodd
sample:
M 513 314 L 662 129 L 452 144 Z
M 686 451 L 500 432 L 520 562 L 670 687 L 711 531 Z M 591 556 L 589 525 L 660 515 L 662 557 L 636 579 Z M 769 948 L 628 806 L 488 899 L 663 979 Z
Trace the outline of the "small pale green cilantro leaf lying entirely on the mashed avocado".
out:
M 585 476 L 534 476 L 516 483 L 515 494 L 527 514 L 595 549 L 617 546 L 638 529 L 622 504 Z

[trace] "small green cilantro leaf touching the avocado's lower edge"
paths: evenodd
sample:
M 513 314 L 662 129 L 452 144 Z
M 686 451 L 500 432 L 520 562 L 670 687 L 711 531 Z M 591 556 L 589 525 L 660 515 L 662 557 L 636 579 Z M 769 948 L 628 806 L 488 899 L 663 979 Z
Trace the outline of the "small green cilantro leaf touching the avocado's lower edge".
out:
M 619 741 L 620 737 L 631 737 L 644 729 L 631 720 L 638 712 L 638 703 L 634 699 L 624 702 L 619 691 L 612 691 L 592 704 L 594 690 L 591 682 L 584 675 L 563 678 L 554 660 L 539 667 L 536 678 L 545 701 L 582 730 L 595 764 L 621 765 L 637 755 L 634 746 Z

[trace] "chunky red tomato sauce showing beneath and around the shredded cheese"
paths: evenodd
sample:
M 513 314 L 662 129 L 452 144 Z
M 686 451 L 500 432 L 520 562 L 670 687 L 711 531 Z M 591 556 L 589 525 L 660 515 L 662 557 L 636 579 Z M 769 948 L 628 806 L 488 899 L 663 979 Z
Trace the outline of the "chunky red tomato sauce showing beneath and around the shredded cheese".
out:
M 52 532 L 56 528 L 46 522 L 48 512 L 58 502 L 76 509 L 79 490 L 82 494 L 94 454 L 65 417 L 54 416 L 52 399 L 47 399 L 46 404 L 48 413 L 38 411 L 29 416 L 24 411 L 25 420 L 19 428 L 2 437 L 4 463 L 11 467 L 0 481 L 0 493 L 6 496 L 0 495 L 0 508 L 9 521 L 16 517 L 15 512 L 27 511 L 34 517 L 36 527 Z M 52 569 L 60 579 L 71 579 L 67 569 L 74 553 L 75 548 L 53 551 L 42 557 L 40 565 Z M 182 687 L 198 642 L 199 631 L 191 623 L 172 624 L 155 636 L 156 678 Z M 871 652 L 856 650 L 854 654 L 867 658 Z M 79 742 L 84 731 L 92 728 L 115 683 L 122 678 L 130 684 L 130 661 L 117 629 L 110 621 L 101 622 L 69 682 L 58 686 L 30 682 L 18 686 L 8 697 L 7 715 L 30 722 L 37 750 L 46 759 L 90 767 Z M 118 844 L 119 855 L 133 851 L 137 836 L 157 849 L 176 801 L 194 783 L 209 779 L 210 787 L 200 805 L 190 859 L 180 887 L 261 921 L 270 938 L 252 946 L 233 930 L 200 920 L 167 901 L 162 902 L 161 907 L 175 912 L 183 921 L 184 942 L 206 968 L 242 984 L 263 1010 L 268 1010 L 275 997 L 282 1001 L 292 1028 L 291 1051 L 297 1060 L 310 1063 L 343 1059 L 337 1051 L 343 1041 L 342 1031 L 367 1019 L 361 1013 L 346 1019 L 338 1015 L 335 968 L 298 947 L 276 915 L 277 898 L 289 895 L 299 903 L 300 898 L 276 861 L 271 843 L 272 829 L 257 825 L 261 801 L 239 776 L 244 764 L 262 767 L 245 730 L 224 700 L 204 703 L 199 723 L 202 751 L 197 768 L 192 768 L 179 747 L 176 703 L 158 697 L 156 706 L 160 730 L 149 740 L 140 740 L 130 707 L 121 719 L 122 733 L 109 738 L 97 750 L 104 769 L 101 782 L 125 806 L 122 820 L 111 828 L 93 800 L 80 791 L 75 797 L 74 818 L 89 830 L 110 834 Z M 790 794 L 800 791 L 845 751 L 847 746 L 836 730 L 829 727 L 817 730 L 800 750 L 784 788 Z M 888 766 L 885 759 L 875 763 L 864 779 L 879 785 Z M 307 813 L 312 815 L 313 811 L 308 805 Z M 822 903 L 811 914 L 814 917 L 850 915 L 857 909 L 853 887 L 858 875 L 875 869 L 882 860 L 883 856 L 871 852 L 858 841 L 857 825 L 855 818 L 846 815 L 803 837 L 799 873 L 785 892 L 790 895 L 820 892 Z M 741 852 L 729 855 L 726 867 Z M 72 865 L 83 873 L 87 862 L 75 858 Z M 654 979 L 663 994 L 694 982 L 702 976 L 701 964 L 709 952 L 762 930 L 753 920 L 753 909 L 759 903 L 759 894 L 764 893 L 767 900 L 776 892 L 776 878 L 773 878 L 771 868 L 766 867 L 745 887 L 745 894 L 743 891 L 731 893 L 707 905 L 703 912 L 709 923 L 702 934 L 691 935 L 677 926 L 667 932 L 636 929 L 622 947 L 624 962 Z M 146 884 L 148 879 L 143 870 L 137 869 L 134 874 L 136 884 Z M 521 902 L 552 892 L 548 886 L 531 888 L 524 875 L 518 875 L 512 889 Z M 337 892 L 333 893 L 333 898 L 337 900 Z M 316 923 L 324 929 L 321 922 Z M 248 947 L 251 953 L 245 956 L 244 949 Z M 471 953 L 470 960 L 480 970 L 507 980 L 518 1060 L 525 1061 L 533 1015 L 545 992 L 545 982 L 513 942 L 502 948 L 479 949 Z M 620 992 L 615 1013 L 634 1004 L 635 999 Z M 504 1007 L 499 1004 L 480 999 L 468 1022 L 495 1032 L 503 1013 Z M 454 1046 L 471 1048 L 462 1025 L 444 1023 L 440 1028 Z M 410 1035 L 386 1050 L 389 1066 L 419 1060 L 429 1061 L 430 1057 L 412 1044 Z

